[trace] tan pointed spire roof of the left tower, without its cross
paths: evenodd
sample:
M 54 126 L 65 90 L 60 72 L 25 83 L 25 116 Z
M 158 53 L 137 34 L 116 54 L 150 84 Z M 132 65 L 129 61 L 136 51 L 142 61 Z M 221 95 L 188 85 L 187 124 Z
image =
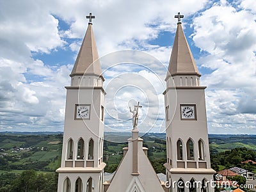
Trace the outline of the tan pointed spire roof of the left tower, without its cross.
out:
M 93 64 L 92 64 L 93 63 Z M 89 22 L 83 43 L 76 58 L 76 63 L 70 76 L 83 74 L 95 74 L 102 76 L 99 54 L 92 30 L 92 23 Z

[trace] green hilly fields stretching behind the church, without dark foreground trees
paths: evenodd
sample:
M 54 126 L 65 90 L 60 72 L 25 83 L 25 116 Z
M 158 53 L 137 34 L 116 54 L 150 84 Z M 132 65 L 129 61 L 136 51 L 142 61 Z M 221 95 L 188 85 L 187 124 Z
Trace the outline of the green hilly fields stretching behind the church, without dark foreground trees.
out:
M 105 133 L 104 162 L 119 164 L 123 148 L 128 143 L 120 143 L 131 137 L 131 133 Z M 163 161 L 166 158 L 165 134 L 143 134 L 143 146 L 148 148 L 150 161 Z M 118 140 L 111 143 L 108 140 Z M 212 153 L 223 152 L 236 147 L 246 147 L 256 151 L 256 136 L 210 135 Z M 38 172 L 54 172 L 60 167 L 62 134 L 12 134 L 0 133 L 0 174 L 20 173 L 33 168 Z M 220 166 L 220 170 L 223 167 Z

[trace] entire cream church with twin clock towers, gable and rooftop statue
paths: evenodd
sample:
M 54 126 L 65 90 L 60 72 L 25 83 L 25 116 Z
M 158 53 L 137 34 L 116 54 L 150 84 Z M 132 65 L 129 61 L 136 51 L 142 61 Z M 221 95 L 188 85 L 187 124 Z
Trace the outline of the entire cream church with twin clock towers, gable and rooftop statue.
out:
M 211 169 L 205 86 L 196 67 L 180 18 L 172 47 L 164 109 L 166 124 L 166 179 L 160 180 L 138 135 L 138 106 L 128 146 L 111 179 L 104 180 L 104 77 L 90 19 L 86 35 L 66 86 L 67 99 L 58 192 L 214 191 Z M 132 112 L 132 111 L 131 111 Z

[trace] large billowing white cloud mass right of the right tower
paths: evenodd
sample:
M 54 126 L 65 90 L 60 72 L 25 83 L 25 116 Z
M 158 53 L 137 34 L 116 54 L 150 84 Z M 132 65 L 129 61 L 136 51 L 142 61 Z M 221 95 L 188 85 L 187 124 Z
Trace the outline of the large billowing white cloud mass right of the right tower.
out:
M 256 88 L 256 22 L 255 14 L 243 9 L 248 3 L 215 3 L 193 22 L 195 45 L 207 52 L 198 61 L 201 67 L 214 70 L 201 78 L 202 84 L 210 89 L 206 92 L 206 102 L 212 133 L 221 129 L 252 133 L 256 129 L 255 120 L 246 119 L 256 116 L 253 109 L 256 92 L 252 91 Z

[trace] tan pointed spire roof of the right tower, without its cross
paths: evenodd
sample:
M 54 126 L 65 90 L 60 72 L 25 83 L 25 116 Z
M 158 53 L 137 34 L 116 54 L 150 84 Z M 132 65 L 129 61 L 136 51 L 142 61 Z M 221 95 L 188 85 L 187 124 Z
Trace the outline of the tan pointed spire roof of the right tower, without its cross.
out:
M 195 74 L 201 76 L 184 35 L 181 22 L 178 22 L 167 77 L 175 74 Z

